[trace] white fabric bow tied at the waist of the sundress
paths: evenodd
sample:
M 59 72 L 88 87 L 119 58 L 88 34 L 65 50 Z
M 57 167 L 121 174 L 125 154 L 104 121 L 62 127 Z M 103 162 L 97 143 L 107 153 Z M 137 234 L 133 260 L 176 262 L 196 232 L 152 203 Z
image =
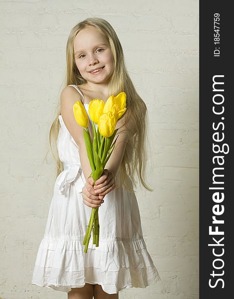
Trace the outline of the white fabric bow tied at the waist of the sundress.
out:
M 59 174 L 59 176 L 57 178 L 57 184 L 59 185 L 59 194 L 60 195 L 64 195 L 67 193 L 70 183 L 76 179 L 80 168 L 81 168 L 80 163 L 64 162 L 64 170 Z M 79 190 L 77 190 L 78 192 L 82 192 L 82 188 L 83 188 L 83 184 L 82 184 L 83 180 L 81 178 L 81 173 L 80 173 L 80 179 L 81 179 L 81 182 L 79 182 L 80 188 L 79 188 Z

